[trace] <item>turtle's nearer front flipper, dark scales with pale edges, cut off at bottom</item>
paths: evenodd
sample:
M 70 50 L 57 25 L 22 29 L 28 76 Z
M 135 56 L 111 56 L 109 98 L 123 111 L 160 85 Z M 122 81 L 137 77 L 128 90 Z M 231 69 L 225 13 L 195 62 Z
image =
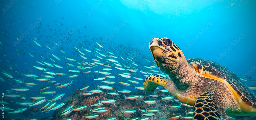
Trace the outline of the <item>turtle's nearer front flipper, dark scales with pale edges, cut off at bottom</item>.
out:
M 219 102 L 221 98 L 219 98 L 217 94 L 221 93 L 208 89 L 196 99 L 193 120 L 228 119 L 224 110 L 224 105 Z

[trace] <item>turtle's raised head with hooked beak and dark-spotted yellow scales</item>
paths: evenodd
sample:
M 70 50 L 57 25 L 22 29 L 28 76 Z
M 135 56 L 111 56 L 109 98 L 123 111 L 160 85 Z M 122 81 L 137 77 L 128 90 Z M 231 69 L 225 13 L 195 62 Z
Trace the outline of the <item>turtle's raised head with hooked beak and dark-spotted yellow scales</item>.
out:
M 169 72 L 187 62 L 183 52 L 169 38 L 152 38 L 149 49 L 159 69 Z

